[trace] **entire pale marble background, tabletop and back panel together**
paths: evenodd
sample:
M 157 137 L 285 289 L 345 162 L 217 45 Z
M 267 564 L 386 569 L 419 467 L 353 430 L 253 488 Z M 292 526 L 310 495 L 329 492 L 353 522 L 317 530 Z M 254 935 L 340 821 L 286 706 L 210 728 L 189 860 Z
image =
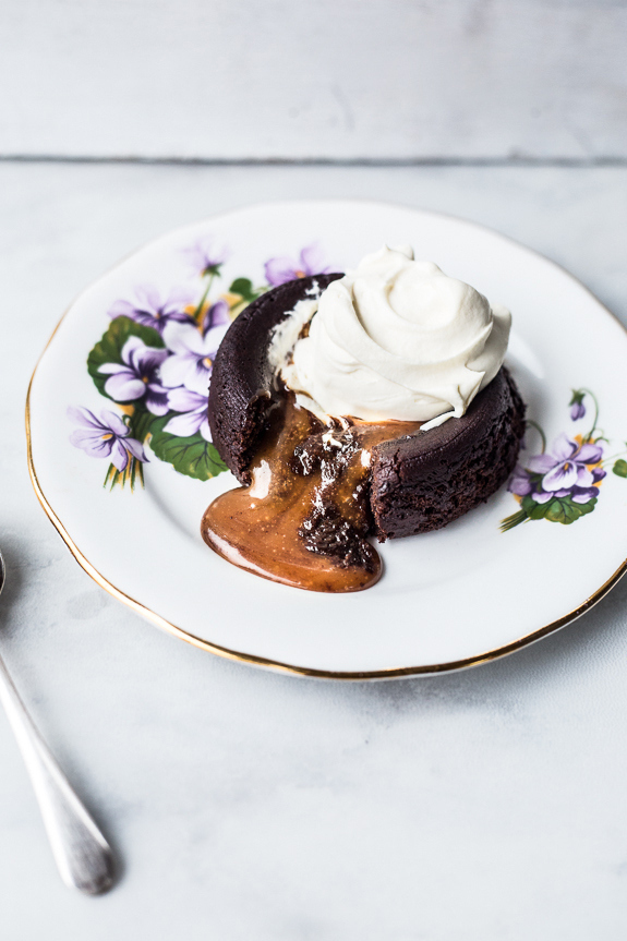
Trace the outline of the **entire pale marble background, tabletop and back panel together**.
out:
M 264 200 L 473 219 L 627 326 L 626 26 L 622 0 L 2 5 L 0 647 L 120 862 L 103 897 L 61 884 L 0 715 L 2 941 L 623 941 L 627 579 L 465 673 L 230 663 L 76 565 L 28 480 L 24 402 L 83 287 Z

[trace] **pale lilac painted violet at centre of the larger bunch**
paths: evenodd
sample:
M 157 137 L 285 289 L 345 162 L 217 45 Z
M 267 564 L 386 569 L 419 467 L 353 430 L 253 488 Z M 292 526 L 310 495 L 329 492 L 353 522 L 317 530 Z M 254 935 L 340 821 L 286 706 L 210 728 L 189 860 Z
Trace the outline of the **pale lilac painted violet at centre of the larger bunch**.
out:
M 218 347 L 230 325 L 226 301 L 212 304 L 201 328 L 192 324 L 169 324 L 164 340 L 172 351 L 161 366 L 161 381 L 173 389 L 184 386 L 206 396 Z

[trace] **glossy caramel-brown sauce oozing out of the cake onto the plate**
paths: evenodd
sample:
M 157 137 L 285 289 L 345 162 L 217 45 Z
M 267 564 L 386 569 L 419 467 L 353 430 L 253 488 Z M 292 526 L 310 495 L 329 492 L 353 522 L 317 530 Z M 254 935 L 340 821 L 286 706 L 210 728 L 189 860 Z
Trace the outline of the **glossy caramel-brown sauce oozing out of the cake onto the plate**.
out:
M 214 552 L 263 578 L 349 592 L 381 578 L 370 529 L 370 453 L 417 422 L 325 427 L 292 394 L 275 410 L 251 462 L 253 483 L 217 497 L 201 531 Z

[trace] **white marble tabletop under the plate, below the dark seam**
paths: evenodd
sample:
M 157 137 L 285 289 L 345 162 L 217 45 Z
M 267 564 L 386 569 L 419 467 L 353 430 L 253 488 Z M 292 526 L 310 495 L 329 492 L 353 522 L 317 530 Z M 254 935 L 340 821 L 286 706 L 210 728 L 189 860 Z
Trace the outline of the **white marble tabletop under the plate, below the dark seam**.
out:
M 31 490 L 26 385 L 73 295 L 170 227 L 315 195 L 494 226 L 627 323 L 627 170 L 0 166 L 1 647 L 121 860 L 107 896 L 62 886 L 0 716 L 7 941 L 625 937 L 627 581 L 560 634 L 463 674 L 291 678 L 117 604 Z

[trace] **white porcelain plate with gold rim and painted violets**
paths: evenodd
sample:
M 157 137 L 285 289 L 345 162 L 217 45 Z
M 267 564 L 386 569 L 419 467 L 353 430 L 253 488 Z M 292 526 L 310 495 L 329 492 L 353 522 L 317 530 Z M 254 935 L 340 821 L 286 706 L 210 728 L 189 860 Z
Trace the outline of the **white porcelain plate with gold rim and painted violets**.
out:
M 206 439 L 198 377 L 256 292 L 384 242 L 511 310 L 507 362 L 533 422 L 521 469 L 444 530 L 385 544 L 367 591 L 265 581 L 200 536 L 234 479 Z M 623 574 L 626 362 L 627 334 L 578 281 L 480 226 L 366 202 L 254 206 L 157 239 L 77 298 L 33 377 L 31 469 L 96 581 L 201 648 L 336 678 L 453 669 L 567 624 Z

